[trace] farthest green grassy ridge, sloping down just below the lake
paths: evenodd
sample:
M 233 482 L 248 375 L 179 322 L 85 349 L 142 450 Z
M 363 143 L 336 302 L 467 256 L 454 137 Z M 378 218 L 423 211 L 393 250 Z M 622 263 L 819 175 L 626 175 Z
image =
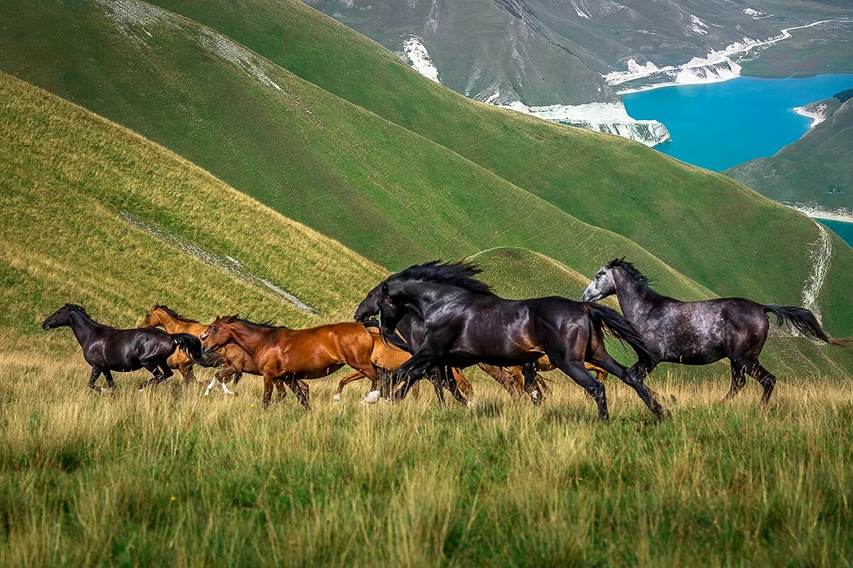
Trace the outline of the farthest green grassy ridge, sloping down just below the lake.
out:
M 630 238 L 719 295 L 801 301 L 812 267 L 809 243 L 818 237 L 814 224 L 722 175 L 640 144 L 479 105 L 420 77 L 392 53 L 296 0 L 158 3 L 215 27 L 299 77 L 449 148 L 582 221 Z M 532 231 L 543 227 L 535 221 L 532 226 Z M 571 233 L 560 237 L 569 246 L 584 246 Z M 541 244 L 502 240 L 479 249 L 501 244 L 525 246 L 589 273 L 571 255 L 554 254 Z M 746 258 L 748 268 L 741 264 Z M 593 264 L 601 264 L 601 258 Z M 843 284 L 850 273 L 853 256 L 839 252 L 821 293 L 840 295 L 840 303 L 850 306 L 844 313 L 827 311 L 827 321 L 839 333 L 853 331 L 853 293 Z

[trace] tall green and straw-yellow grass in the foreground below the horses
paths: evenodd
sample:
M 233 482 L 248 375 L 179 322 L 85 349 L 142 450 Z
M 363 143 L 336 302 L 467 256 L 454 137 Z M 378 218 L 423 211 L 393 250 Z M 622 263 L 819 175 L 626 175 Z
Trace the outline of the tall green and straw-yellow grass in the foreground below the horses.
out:
M 567 380 L 543 407 L 292 396 L 260 409 L 177 381 L 114 398 L 77 359 L 5 353 L 3 565 L 849 565 L 853 398 L 843 384 L 655 377 L 671 422 Z M 138 374 L 137 374 L 138 375 Z M 204 378 L 204 377 L 202 377 Z M 218 393 L 217 393 L 218 394 Z

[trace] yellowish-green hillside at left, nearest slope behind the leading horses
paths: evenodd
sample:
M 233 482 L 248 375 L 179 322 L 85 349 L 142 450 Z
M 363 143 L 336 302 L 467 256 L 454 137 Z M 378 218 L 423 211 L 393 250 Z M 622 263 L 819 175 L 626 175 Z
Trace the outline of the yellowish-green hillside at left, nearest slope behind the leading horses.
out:
M 351 318 L 383 274 L 164 148 L 2 73 L 0 141 L 5 353 L 76 351 L 69 333 L 40 327 L 67 301 L 125 327 L 157 302 L 202 321 L 240 312 L 301 326 Z

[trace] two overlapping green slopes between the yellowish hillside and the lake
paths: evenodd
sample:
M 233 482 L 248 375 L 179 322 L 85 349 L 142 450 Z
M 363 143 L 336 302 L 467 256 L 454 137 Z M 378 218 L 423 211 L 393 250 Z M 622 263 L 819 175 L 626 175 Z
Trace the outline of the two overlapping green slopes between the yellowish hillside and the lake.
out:
M 163 2 L 268 58 L 248 56 L 287 95 L 193 21 L 117 26 L 107 4 L 4 3 L 0 66 L 383 267 L 523 246 L 583 274 L 625 255 L 686 299 L 801 300 L 814 225 L 720 175 L 467 100 L 302 3 Z M 851 265 L 838 247 L 821 291 L 839 335 Z

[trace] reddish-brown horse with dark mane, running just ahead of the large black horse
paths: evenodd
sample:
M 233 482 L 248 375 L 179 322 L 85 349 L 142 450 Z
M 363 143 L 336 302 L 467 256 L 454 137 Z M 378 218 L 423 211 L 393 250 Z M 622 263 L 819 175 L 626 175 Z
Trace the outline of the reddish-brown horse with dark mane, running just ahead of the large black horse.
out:
M 329 376 L 345 364 L 375 381 L 379 369 L 370 360 L 373 336 L 363 324 L 345 322 L 292 330 L 255 324 L 238 316 L 216 318 L 202 331 L 208 349 L 236 344 L 248 353 L 264 377 L 264 408 L 270 406 L 274 386 L 287 385 L 310 410 L 307 389 L 299 382 Z

